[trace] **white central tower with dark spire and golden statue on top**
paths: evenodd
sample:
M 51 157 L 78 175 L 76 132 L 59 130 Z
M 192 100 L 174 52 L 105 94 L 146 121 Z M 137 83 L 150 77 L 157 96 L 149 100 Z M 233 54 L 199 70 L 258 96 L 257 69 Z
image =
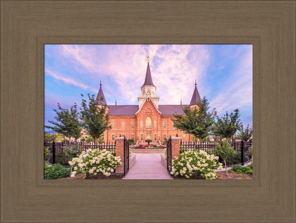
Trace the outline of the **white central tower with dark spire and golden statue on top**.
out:
M 149 56 L 148 58 L 148 65 L 147 65 L 147 71 L 146 71 L 146 77 L 143 86 L 141 87 L 141 95 L 138 97 L 139 101 L 139 108 L 141 107 L 143 101 L 147 97 L 147 95 L 150 96 L 150 98 L 153 100 L 155 103 L 156 107 L 158 108 L 158 101 L 159 97 L 155 94 L 156 87 L 154 86 L 152 82 L 152 76 L 151 76 L 151 71 L 150 71 L 150 66 L 149 66 Z

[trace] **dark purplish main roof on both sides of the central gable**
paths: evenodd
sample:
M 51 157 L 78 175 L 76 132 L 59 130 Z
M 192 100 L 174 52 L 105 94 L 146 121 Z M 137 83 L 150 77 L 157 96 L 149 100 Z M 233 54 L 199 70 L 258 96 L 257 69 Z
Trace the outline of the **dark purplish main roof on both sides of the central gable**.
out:
M 181 108 L 182 105 L 159 105 L 158 110 L 163 115 L 184 114 Z M 184 105 L 183 105 L 184 106 Z M 139 110 L 139 105 L 108 105 L 109 115 L 135 115 Z

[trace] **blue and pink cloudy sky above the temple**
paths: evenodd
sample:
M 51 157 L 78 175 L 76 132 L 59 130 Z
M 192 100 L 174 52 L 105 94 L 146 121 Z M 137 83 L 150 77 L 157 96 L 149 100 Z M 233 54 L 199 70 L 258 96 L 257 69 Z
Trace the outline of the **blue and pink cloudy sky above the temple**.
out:
M 107 105 L 138 104 L 147 58 L 159 104 L 189 104 L 195 87 L 219 116 L 239 109 L 252 126 L 252 44 L 66 44 L 44 45 L 44 125 L 57 103 L 81 105 L 81 93 L 99 91 Z M 86 97 L 84 97 L 86 98 Z

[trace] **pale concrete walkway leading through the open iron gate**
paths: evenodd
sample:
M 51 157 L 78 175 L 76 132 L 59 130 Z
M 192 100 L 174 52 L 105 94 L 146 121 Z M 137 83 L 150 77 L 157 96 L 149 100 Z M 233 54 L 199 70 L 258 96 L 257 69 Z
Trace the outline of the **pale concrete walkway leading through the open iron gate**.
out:
M 136 163 L 126 174 L 123 180 L 130 179 L 170 179 L 168 171 L 160 161 L 160 156 L 164 153 L 135 153 Z

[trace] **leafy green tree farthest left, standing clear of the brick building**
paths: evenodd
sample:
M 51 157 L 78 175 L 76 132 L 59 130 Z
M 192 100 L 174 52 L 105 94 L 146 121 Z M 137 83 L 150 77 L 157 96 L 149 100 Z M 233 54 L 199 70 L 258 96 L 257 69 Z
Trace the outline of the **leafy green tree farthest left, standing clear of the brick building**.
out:
M 79 120 L 79 113 L 77 112 L 77 104 L 74 103 L 74 105 L 70 108 L 70 111 L 68 109 L 63 109 L 59 103 L 57 106 L 60 110 L 57 111 L 54 109 L 54 111 L 57 113 L 57 116 L 54 118 L 57 121 L 48 121 L 49 123 L 53 124 L 54 127 L 47 125 L 45 127 L 65 135 L 69 138 L 69 141 L 71 141 L 71 136 L 73 136 L 75 139 L 78 139 L 82 135 L 82 125 Z

